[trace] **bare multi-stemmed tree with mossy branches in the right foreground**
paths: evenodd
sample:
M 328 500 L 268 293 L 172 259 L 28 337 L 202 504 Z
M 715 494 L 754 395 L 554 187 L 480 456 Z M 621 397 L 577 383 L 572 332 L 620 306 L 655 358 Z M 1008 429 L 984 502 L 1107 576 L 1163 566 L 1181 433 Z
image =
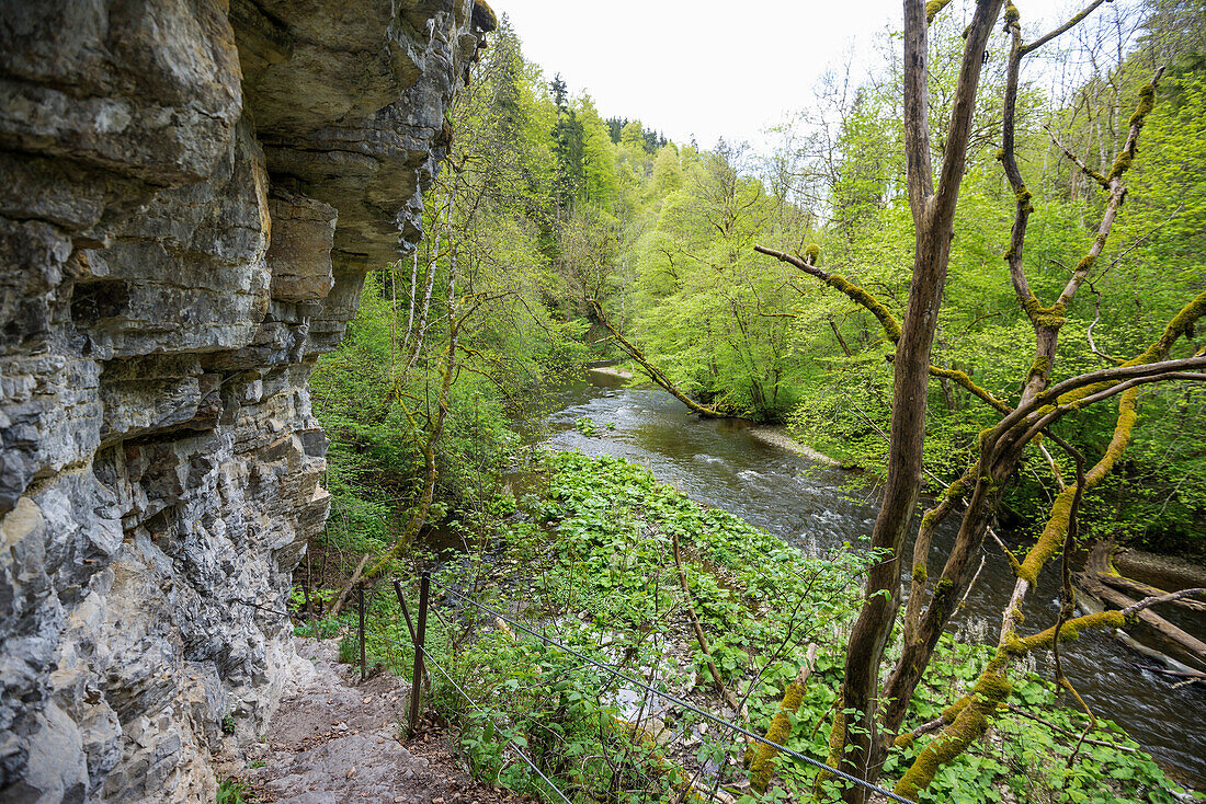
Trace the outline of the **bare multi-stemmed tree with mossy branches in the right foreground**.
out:
M 919 755 L 898 781 L 896 792 L 915 796 L 933 779 L 937 769 L 962 752 L 982 735 L 995 716 L 997 705 L 1011 686 L 1006 670 L 1011 661 L 1040 646 L 1055 647 L 1059 639 L 1078 628 L 1095 626 L 1117 627 L 1124 615 L 1114 611 L 1072 618 L 1070 594 L 1061 606 L 1060 620 L 1053 628 L 1030 636 L 1020 634 L 1020 605 L 1034 587 L 1038 571 L 1052 556 L 1069 550 L 1077 530 L 1077 512 L 1085 489 L 1105 477 L 1118 460 L 1130 439 L 1137 415 L 1137 387 L 1171 380 L 1204 380 L 1200 369 L 1206 356 L 1198 352 L 1187 358 L 1172 359 L 1177 341 L 1193 330 L 1194 322 L 1206 313 L 1206 293 L 1185 304 L 1167 323 L 1160 336 L 1130 360 L 1119 365 L 1089 371 L 1060 382 L 1052 381 L 1059 334 L 1066 323 L 1066 311 L 1077 291 L 1101 257 L 1118 209 L 1126 196 L 1124 178 L 1137 153 L 1137 140 L 1144 119 L 1155 99 L 1157 78 L 1140 93 L 1140 101 L 1130 117 L 1124 142 L 1108 168 L 1108 174 L 1096 171 L 1077 160 L 1079 169 L 1105 193 L 1105 205 L 1091 245 L 1058 288 L 1056 298 L 1044 305 L 1031 289 L 1024 258 L 1024 246 L 1034 194 L 1023 182 L 1017 162 L 1015 119 L 1019 98 L 1019 69 L 1023 58 L 1066 33 L 1100 1 L 1090 2 L 1069 23 L 1049 34 L 1023 42 L 1019 13 L 1012 4 L 980 0 L 974 5 L 971 24 L 965 31 L 965 46 L 958 70 L 958 82 L 950 102 L 950 121 L 941 148 L 941 170 L 935 184 L 931 170 L 931 142 L 927 119 L 927 28 L 946 2 L 919 1 L 904 6 L 903 142 L 907 159 L 909 207 L 915 227 L 913 275 L 906 311 L 900 324 L 892 312 L 872 294 L 843 277 L 820 270 L 812 256 L 791 256 L 759 247 L 795 265 L 804 274 L 826 282 L 848 298 L 866 307 L 879 319 L 885 336 L 895 345 L 894 398 L 891 433 L 888 456 L 888 479 L 884 499 L 872 533 L 872 547 L 882 551 L 883 559 L 868 573 L 862 611 L 854 624 L 847 650 L 845 675 L 842 687 L 843 708 L 835 720 L 835 759 L 847 773 L 874 780 L 886 753 L 894 745 L 907 744 L 912 736 L 936 728 L 942 732 Z M 1035 338 L 1035 357 L 1026 371 L 1017 405 L 1009 405 L 960 371 L 933 365 L 932 346 L 939 322 L 939 309 L 950 258 L 955 210 L 960 184 L 965 178 L 968 146 L 976 131 L 976 98 L 980 84 L 980 65 L 985 60 L 989 31 L 1005 7 L 1009 35 L 1009 57 L 1002 101 L 1002 148 L 999 159 L 1014 195 L 1014 222 L 1009 247 L 1005 254 L 1017 304 L 1024 311 Z M 913 580 L 908 610 L 903 622 L 903 653 L 896 662 L 888 682 L 879 685 L 879 669 L 884 649 L 896 624 L 902 603 L 901 562 L 918 491 L 921 483 L 923 448 L 927 413 L 927 380 L 937 376 L 958 383 L 999 415 L 995 427 L 984 430 L 979 439 L 974 464 L 958 481 L 950 483 L 938 504 L 926 512 L 914 546 Z M 1052 426 L 1064 417 L 1097 401 L 1119 397 L 1119 415 L 1111 444 L 1101 458 L 1088 466 L 1084 456 L 1066 440 L 1052 432 Z M 1005 611 L 997 653 L 989 663 L 976 687 L 944 712 L 938 722 L 923 724 L 914 733 L 900 732 L 908 711 L 912 693 L 932 656 L 938 636 L 955 611 L 955 604 L 971 582 L 971 558 L 979 548 L 989 523 L 995 515 L 1003 489 L 1014 476 L 1024 451 L 1038 436 L 1059 445 L 1076 463 L 1076 481 L 1065 483 L 1056 476 L 1061 491 L 1050 506 L 1047 527 L 1021 562 L 1013 562 L 1017 582 Z M 1056 468 L 1054 460 L 1050 462 Z M 964 501 L 964 512 L 955 545 L 932 586 L 926 567 L 929 540 L 937 524 Z M 1070 588 L 1065 565 L 1065 589 Z M 1151 605 L 1132 606 L 1128 614 Z M 1056 652 L 1058 656 L 1058 652 Z M 1058 667 L 1058 661 L 1056 661 Z M 1061 685 L 1067 680 L 1059 674 Z M 880 702 L 882 705 L 880 705 Z M 911 736 L 912 735 L 912 736 Z M 850 787 L 844 793 L 849 802 L 865 800 L 865 791 Z

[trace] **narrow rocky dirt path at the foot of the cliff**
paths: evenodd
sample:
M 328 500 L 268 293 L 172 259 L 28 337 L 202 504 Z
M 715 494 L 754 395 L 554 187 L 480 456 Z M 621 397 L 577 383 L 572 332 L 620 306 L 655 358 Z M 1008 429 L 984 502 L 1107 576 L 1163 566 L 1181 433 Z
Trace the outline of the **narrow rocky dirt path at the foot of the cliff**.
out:
M 227 775 L 251 785 L 264 804 L 511 804 L 509 791 L 478 782 L 455 757 L 445 732 L 425 723 L 405 736 L 409 683 L 388 674 L 361 683 L 338 663 L 338 640 L 298 639 L 309 662 L 286 685 L 260 743 Z M 312 673 L 308 673 L 312 663 Z M 233 767 L 232 767 L 233 765 Z

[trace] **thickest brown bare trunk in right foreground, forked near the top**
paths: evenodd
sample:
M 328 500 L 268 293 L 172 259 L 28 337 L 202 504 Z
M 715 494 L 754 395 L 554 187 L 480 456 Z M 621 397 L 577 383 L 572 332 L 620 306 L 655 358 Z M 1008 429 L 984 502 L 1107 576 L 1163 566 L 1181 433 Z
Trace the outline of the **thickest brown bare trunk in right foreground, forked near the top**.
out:
M 854 710 L 854 714 L 841 720 L 844 749 L 839 752 L 841 769 L 868 781 L 879 776 L 878 763 L 872 756 L 878 729 L 876 699 L 879 667 L 901 604 L 900 552 L 921 483 L 930 352 L 947 280 L 955 205 L 967 155 L 984 47 L 1002 4 L 1003 0 L 979 0 L 976 4 L 965 37 L 942 174 L 935 192 L 926 93 L 929 22 L 921 0 L 904 2 L 904 142 L 917 247 L 908 306 L 894 360 L 888 480 L 871 535 L 872 548 L 883 551 L 888 557 L 867 574 L 862 611 L 847 645 L 842 685 L 843 706 L 848 711 Z M 843 799 L 851 804 L 863 804 L 866 798 L 867 791 L 862 787 L 853 786 L 843 792 Z

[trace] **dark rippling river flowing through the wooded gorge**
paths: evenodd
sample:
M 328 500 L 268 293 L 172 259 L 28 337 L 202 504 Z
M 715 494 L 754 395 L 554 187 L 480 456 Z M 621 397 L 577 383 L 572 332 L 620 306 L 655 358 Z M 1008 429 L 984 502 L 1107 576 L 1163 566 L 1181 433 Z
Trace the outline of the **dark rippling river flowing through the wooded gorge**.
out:
M 589 381 L 554 392 L 545 413 L 529 421 L 529 436 L 555 450 L 614 454 L 640 463 L 662 482 L 693 499 L 724 507 L 789 544 L 826 550 L 857 544 L 871 533 L 876 488 L 843 488 L 849 473 L 810 462 L 754 438 L 747 423 L 708 421 L 661 389 L 628 389 L 624 381 L 592 371 Z M 579 433 L 589 416 L 598 434 Z M 605 427 L 614 423 L 614 429 Z M 935 538 L 931 568 L 954 539 L 956 522 Z M 1008 541 L 1008 535 L 1002 534 Z M 961 615 L 964 634 L 995 642 L 1000 612 L 1013 575 L 1000 548 L 985 545 L 984 570 Z M 912 562 L 909 562 L 911 564 Z M 1048 570 L 1030 595 L 1026 622 L 1054 624 L 1058 573 Z M 1200 632 L 1204 623 L 1194 626 Z M 1198 633 L 1201 636 L 1200 633 Z M 965 636 L 967 639 L 967 636 Z M 1167 677 L 1142 670 L 1147 662 L 1116 640 L 1085 633 L 1064 651 L 1065 671 L 1099 717 L 1116 721 L 1176 779 L 1206 790 L 1206 692 L 1199 685 L 1171 688 Z M 1050 677 L 1049 657 L 1037 670 Z

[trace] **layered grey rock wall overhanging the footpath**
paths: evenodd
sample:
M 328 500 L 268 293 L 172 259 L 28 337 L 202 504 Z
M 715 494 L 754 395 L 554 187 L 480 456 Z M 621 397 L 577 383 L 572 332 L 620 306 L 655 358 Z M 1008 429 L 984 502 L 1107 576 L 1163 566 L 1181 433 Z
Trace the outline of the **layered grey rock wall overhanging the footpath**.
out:
M 212 802 L 259 734 L 329 505 L 306 380 L 417 242 L 493 25 L 0 0 L 0 802 Z

